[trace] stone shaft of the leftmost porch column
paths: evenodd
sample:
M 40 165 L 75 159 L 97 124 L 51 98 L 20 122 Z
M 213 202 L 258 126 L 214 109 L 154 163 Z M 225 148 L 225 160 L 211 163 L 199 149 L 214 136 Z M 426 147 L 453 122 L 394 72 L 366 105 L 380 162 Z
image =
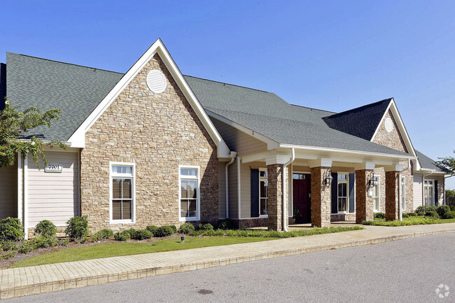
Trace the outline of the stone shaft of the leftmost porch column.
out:
M 283 164 L 267 165 L 267 227 L 269 230 L 283 230 Z

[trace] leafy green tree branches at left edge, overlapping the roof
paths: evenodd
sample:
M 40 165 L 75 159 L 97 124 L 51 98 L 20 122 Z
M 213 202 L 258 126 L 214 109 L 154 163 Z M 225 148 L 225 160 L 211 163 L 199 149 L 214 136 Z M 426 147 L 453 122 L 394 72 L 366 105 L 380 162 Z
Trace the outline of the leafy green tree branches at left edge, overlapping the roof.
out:
M 38 108 L 31 106 L 20 112 L 18 107 L 11 106 L 8 99 L 5 98 L 5 100 L 5 108 L 0 111 L 0 167 L 13 165 L 15 156 L 21 153 L 22 155 L 31 154 L 39 168 L 40 157 L 45 164 L 48 164 L 43 153 L 45 146 L 59 146 L 66 149 L 64 143 L 60 141 L 44 142 L 36 136 L 25 139 L 30 129 L 43 125 L 50 127 L 50 122 L 59 120 L 58 114 L 62 111 L 51 109 L 41 113 Z

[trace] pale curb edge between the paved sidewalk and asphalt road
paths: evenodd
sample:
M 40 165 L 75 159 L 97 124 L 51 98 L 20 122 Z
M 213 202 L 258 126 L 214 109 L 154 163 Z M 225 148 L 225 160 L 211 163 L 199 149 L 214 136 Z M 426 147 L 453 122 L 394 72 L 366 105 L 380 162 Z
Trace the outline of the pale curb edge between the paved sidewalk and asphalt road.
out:
M 390 227 L 393 228 L 393 227 Z M 446 234 L 455 232 L 455 229 L 437 230 L 432 232 L 414 232 L 409 234 L 400 234 L 398 236 L 379 237 L 373 239 L 365 239 L 361 241 L 350 241 L 335 245 L 313 246 L 309 248 L 297 248 L 285 251 L 274 251 L 273 253 L 254 253 L 236 258 L 224 258 L 215 261 L 204 261 L 195 263 L 184 263 L 180 265 L 172 265 L 166 267 L 149 267 L 144 269 L 137 269 L 127 272 L 118 272 L 115 274 L 101 274 L 91 276 L 79 276 L 71 279 L 62 279 L 47 283 L 31 283 L 25 286 L 13 286 L 10 288 L 0 289 L 0 299 L 7 299 L 11 297 L 22 297 L 25 295 L 37 295 L 40 293 L 50 293 L 58 290 L 66 290 L 72 288 L 79 288 L 83 286 L 94 286 L 104 283 L 125 281 L 130 279 L 145 278 L 148 276 L 159 276 L 162 274 L 173 274 L 177 272 L 189 272 L 196 269 L 206 269 L 210 267 L 218 267 L 223 265 L 236 264 L 241 262 L 248 262 L 254 260 L 265 260 L 271 258 L 285 257 L 288 255 L 300 255 L 303 253 L 312 253 L 315 251 L 327 251 L 330 249 L 339 249 L 353 246 L 363 246 L 370 244 L 379 244 L 389 241 L 396 241 L 401 239 L 421 237 L 430 234 Z

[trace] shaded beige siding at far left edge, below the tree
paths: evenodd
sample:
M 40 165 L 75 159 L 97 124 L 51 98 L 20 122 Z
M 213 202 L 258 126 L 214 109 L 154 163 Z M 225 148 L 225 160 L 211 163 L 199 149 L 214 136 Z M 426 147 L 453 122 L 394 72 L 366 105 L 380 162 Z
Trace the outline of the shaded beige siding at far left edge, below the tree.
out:
M 18 216 L 18 162 L 0 167 L 0 218 Z

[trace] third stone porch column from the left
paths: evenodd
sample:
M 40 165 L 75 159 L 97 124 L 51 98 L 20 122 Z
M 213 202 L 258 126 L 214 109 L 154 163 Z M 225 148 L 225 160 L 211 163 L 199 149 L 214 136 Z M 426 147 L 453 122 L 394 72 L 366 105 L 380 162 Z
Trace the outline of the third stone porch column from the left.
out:
M 374 169 L 374 167 L 373 167 Z M 373 220 L 374 199 L 368 195 L 373 169 L 356 170 L 356 223 Z

